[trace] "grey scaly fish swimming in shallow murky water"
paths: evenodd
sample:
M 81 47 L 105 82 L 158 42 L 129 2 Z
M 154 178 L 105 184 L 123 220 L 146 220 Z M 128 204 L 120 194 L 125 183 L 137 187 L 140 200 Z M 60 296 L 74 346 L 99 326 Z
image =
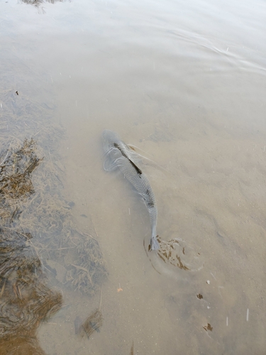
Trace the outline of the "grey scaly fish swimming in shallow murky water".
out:
M 131 182 L 133 187 L 135 187 L 135 190 L 137 190 L 140 196 L 143 198 L 150 214 L 150 224 L 152 230 L 150 249 L 160 249 L 156 232 L 157 204 L 155 195 L 152 187 L 150 186 L 148 178 L 137 165 L 135 159 L 136 153 L 133 153 L 131 149 L 126 145 L 126 143 L 121 141 L 121 138 L 119 138 L 117 133 L 109 131 L 108 129 L 103 131 L 102 140 L 104 153 L 106 155 L 106 160 L 104 161 L 104 170 L 120 170 L 124 177 L 127 178 L 129 182 Z

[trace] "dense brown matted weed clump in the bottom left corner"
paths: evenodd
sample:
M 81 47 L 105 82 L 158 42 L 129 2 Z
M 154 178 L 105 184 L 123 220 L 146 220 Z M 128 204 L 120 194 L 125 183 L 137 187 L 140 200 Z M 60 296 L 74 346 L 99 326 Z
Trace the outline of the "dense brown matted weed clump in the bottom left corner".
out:
M 48 288 L 31 235 L 0 228 L 0 339 L 35 334 L 62 295 Z

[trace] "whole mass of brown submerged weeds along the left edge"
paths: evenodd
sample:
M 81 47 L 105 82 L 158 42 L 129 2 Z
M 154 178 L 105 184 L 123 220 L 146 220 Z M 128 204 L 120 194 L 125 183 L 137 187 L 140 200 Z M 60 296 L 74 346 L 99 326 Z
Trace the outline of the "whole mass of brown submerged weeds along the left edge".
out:
M 33 73 L 7 56 L 0 87 L 0 354 L 44 355 L 36 330 L 62 307 L 62 293 L 50 284 L 94 295 L 106 263 L 94 230 L 78 231 L 74 202 L 63 194 L 58 151 L 64 130 L 50 93 L 42 87 L 35 95 L 34 87 L 33 98 L 10 89 L 14 65 L 20 82 Z

